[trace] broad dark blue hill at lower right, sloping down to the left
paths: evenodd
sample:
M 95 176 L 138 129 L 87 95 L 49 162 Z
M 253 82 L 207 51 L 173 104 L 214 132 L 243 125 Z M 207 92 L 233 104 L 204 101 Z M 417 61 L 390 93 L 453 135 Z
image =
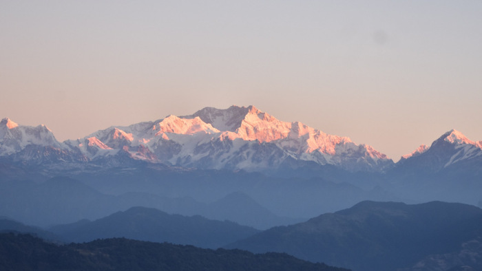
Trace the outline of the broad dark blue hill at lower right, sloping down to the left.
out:
M 355 271 L 408 268 L 482 236 L 482 210 L 465 204 L 361 202 L 292 226 L 271 228 L 227 248 L 286 252 Z

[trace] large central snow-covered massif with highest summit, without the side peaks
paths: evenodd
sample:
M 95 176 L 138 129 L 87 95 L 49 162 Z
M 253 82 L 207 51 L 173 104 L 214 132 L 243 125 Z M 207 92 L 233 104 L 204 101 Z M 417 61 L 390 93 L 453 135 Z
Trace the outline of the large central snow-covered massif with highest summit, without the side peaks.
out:
M 253 106 L 207 107 L 190 116 L 109 127 L 65 143 L 92 160 L 122 150 L 134 159 L 202 169 L 263 171 L 289 161 L 330 164 L 349 171 L 383 171 L 392 165 L 392 160 L 368 145 L 301 122 L 277 120 Z

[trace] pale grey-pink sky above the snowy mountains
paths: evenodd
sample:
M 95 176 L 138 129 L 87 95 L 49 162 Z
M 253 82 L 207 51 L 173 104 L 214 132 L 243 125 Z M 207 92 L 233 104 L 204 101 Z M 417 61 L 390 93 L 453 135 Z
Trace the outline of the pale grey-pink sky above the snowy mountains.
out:
M 254 105 L 393 160 L 482 140 L 482 1 L 0 0 L 0 118 L 57 140 Z

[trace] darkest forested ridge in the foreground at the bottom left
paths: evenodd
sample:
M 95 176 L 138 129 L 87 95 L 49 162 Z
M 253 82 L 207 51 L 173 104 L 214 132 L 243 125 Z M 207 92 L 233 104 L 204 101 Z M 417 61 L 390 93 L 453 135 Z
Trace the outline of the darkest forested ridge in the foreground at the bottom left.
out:
M 56 246 L 31 235 L 0 234 L 0 252 L 0 270 L 348 271 L 287 254 L 207 250 L 124 238 Z

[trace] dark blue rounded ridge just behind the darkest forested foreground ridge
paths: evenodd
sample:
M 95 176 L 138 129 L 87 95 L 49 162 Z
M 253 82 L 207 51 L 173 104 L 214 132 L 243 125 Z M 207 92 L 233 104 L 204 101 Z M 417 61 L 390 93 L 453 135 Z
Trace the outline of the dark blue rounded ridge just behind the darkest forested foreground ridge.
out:
M 189 244 L 200 248 L 220 248 L 259 232 L 231 221 L 169 215 L 144 207 L 129 208 L 125 212 L 117 212 L 96 221 L 54 226 L 50 231 L 74 242 L 126 237 L 141 241 Z

